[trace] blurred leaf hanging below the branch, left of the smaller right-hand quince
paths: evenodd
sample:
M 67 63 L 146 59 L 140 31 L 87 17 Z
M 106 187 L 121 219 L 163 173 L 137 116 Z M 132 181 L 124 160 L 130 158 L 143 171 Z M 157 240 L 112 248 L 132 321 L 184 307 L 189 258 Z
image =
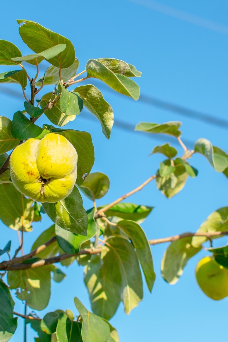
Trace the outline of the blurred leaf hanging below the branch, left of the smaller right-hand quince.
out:
M 161 261 L 161 274 L 169 284 L 176 284 L 183 273 L 188 260 L 201 250 L 201 246 L 194 248 L 191 237 L 171 242 Z

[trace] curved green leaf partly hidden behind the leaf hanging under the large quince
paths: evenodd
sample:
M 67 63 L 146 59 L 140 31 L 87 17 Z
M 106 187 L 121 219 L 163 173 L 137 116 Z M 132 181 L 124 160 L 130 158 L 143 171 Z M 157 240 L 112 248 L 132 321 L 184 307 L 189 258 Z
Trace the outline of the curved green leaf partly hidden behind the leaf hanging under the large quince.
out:
M 65 229 L 55 226 L 56 238 L 59 246 L 68 254 L 78 253 L 83 242 L 90 240 L 96 234 L 96 222 L 94 221 L 94 208 L 87 211 L 88 230 L 87 235 L 79 235 L 66 232 Z

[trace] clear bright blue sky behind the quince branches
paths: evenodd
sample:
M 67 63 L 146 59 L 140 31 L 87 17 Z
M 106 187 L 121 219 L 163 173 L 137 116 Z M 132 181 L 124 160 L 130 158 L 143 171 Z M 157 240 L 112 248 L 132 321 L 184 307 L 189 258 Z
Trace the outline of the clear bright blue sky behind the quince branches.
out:
M 227 1 L 162 0 L 157 3 L 157 6 L 172 6 L 174 10 L 206 19 L 206 23 L 217 23 L 215 27 L 223 25 L 224 32 L 156 11 L 152 9 L 156 7 L 155 1 L 145 0 L 141 4 L 137 0 L 116 0 L 114 3 L 104 0 L 40 0 L 36 7 L 36 2 L 28 0 L 21 3 L 5 1 L 1 3 L 1 39 L 13 42 L 26 54 L 29 49 L 19 37 L 16 19 L 39 22 L 72 41 L 80 62 L 79 71 L 84 70 L 90 58 L 119 58 L 142 71 L 142 77 L 136 79 L 142 94 L 226 119 Z M 1 66 L 0 70 L 3 72 L 5 67 Z M 95 81 L 94 84 L 99 88 L 101 83 Z M 8 89 L 12 87 L 8 86 Z M 19 86 L 14 89 L 19 91 Z M 134 125 L 139 121 L 162 123 L 179 120 L 183 122 L 183 139 L 195 142 L 204 137 L 213 145 L 228 150 L 225 128 L 152 107 L 140 100 L 135 102 L 110 91 L 108 87 L 102 87 L 101 90 L 113 107 L 114 118 L 118 120 Z M 12 118 L 16 110 L 23 108 L 24 101 L 1 92 L 0 101 L 0 115 L 3 116 Z M 37 123 L 41 125 L 48 123 L 48 120 L 41 118 Z M 110 178 L 110 190 L 102 200 L 97 201 L 98 205 L 109 203 L 140 185 L 156 172 L 164 159 L 162 155 L 148 157 L 152 148 L 161 144 L 156 136 L 150 139 L 146 134 L 143 136 L 122 131 L 115 127 L 115 121 L 109 141 L 102 134 L 98 121 L 89 120 L 83 116 L 83 112 L 69 127 L 91 133 L 95 146 L 93 171 L 103 172 Z M 182 154 L 182 148 L 178 147 L 178 150 Z M 216 173 L 201 155 L 193 156 L 190 162 L 199 170 L 199 175 L 196 179 L 188 179 L 185 188 L 174 198 L 166 199 L 155 183 L 151 183 L 129 199 L 134 203 L 155 207 L 143 223 L 148 238 L 194 232 L 211 212 L 228 205 L 225 176 Z M 84 197 L 83 203 L 86 209 L 92 207 L 92 202 Z M 41 223 L 33 226 L 33 232 L 25 236 L 26 252 L 36 237 L 50 225 L 51 220 L 44 217 Z M 0 232 L 0 248 L 11 239 L 12 248 L 16 249 L 16 232 L 2 223 Z M 227 239 L 223 238 L 216 240 L 215 246 L 226 243 Z M 144 300 L 130 316 L 123 313 L 123 306 L 120 305 L 111 320 L 119 332 L 120 341 L 190 342 L 194 339 L 200 342 L 222 339 L 227 330 L 225 317 L 228 299 L 215 302 L 207 298 L 198 287 L 194 275 L 196 263 L 206 252 L 202 251 L 193 257 L 177 284 L 171 286 L 160 276 L 160 262 L 167 246 L 151 247 L 157 275 L 152 294 L 144 286 Z M 52 284 L 49 306 L 40 313 L 41 316 L 57 308 L 68 308 L 76 314 L 74 296 L 90 308 L 83 284 L 83 268 L 75 263 L 66 273 L 67 278 L 61 284 Z M 15 310 L 23 312 L 23 305 L 16 301 Z M 18 332 L 11 339 L 12 342 L 23 340 L 23 320 L 19 318 L 18 321 Z M 29 341 L 32 336 L 35 335 L 31 331 Z

